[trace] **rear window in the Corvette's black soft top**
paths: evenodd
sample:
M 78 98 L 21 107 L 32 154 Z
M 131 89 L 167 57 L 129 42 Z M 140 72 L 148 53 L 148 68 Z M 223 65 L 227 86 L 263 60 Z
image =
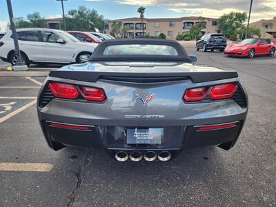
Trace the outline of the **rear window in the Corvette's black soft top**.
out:
M 170 55 L 177 56 L 178 52 L 172 46 L 127 44 L 108 46 L 103 55 Z

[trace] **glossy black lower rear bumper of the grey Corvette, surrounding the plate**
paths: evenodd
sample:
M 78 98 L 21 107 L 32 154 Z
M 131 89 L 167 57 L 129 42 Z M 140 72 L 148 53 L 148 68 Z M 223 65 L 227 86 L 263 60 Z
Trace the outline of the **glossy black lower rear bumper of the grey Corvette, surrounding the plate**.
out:
M 41 127 L 50 148 L 59 150 L 64 146 L 83 146 L 110 150 L 180 150 L 203 146 L 221 146 L 232 148 L 242 130 L 244 120 L 233 121 L 235 126 L 207 129 L 206 126 L 164 126 L 164 139 L 160 145 L 130 145 L 126 143 L 124 126 L 77 125 L 85 129 L 62 128 L 52 126 L 53 121 L 41 121 Z M 67 124 L 60 123 L 59 124 Z M 220 123 L 221 124 L 221 123 Z M 222 123 L 226 124 L 226 123 Z M 229 123 L 227 123 L 229 124 Z M 133 126 L 135 127 L 135 126 Z M 203 128 L 203 130 L 202 130 Z

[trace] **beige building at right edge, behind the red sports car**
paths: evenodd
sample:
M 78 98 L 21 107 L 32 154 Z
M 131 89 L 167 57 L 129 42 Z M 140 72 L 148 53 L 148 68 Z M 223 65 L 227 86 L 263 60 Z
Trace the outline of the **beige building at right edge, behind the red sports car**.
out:
M 249 24 L 252 28 L 261 30 L 262 38 L 269 38 L 276 41 L 276 17 L 273 19 L 261 19 Z

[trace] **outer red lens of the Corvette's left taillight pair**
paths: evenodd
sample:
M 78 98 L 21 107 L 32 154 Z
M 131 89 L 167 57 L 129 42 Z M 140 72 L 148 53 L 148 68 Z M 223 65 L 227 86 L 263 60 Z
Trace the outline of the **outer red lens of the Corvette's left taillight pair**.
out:
M 77 88 L 72 84 L 52 82 L 48 85 L 55 97 L 62 99 L 76 99 L 79 95 Z

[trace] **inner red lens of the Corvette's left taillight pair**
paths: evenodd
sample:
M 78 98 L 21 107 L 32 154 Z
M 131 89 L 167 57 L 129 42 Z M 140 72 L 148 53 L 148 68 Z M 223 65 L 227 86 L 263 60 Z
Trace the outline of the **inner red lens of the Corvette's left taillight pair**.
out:
M 88 101 L 104 101 L 106 99 L 106 95 L 104 95 L 103 90 L 100 88 L 90 88 L 86 86 L 80 86 L 81 95 L 83 98 Z

